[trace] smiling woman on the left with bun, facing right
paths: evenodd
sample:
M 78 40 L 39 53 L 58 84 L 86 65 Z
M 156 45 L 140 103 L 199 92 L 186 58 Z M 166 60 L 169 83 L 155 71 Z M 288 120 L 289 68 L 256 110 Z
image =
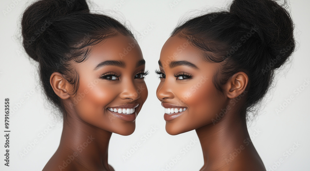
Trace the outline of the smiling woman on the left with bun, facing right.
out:
M 22 35 L 47 99 L 64 119 L 59 148 L 43 170 L 114 170 L 111 134 L 134 132 L 148 96 L 145 61 L 132 33 L 91 14 L 85 0 L 41 0 L 24 11 Z

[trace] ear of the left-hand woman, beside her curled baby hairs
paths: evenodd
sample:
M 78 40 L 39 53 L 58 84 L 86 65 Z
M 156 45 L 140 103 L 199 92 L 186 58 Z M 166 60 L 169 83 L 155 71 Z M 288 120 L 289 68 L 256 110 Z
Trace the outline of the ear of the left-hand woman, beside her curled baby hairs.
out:
M 50 84 L 57 96 L 62 99 L 67 99 L 70 97 L 68 93 L 68 84 L 67 80 L 63 77 L 63 75 L 59 72 L 52 73 L 50 77 Z

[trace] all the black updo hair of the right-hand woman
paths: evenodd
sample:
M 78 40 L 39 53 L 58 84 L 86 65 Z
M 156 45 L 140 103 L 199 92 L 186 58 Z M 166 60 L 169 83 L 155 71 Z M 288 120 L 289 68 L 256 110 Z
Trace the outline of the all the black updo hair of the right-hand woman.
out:
M 189 19 L 171 36 L 186 38 L 202 50 L 208 62 L 222 62 L 213 83 L 220 94 L 233 74 L 249 77 L 246 103 L 241 112 L 255 111 L 279 68 L 295 48 L 294 23 L 287 2 L 274 0 L 234 0 L 229 10 L 220 10 Z

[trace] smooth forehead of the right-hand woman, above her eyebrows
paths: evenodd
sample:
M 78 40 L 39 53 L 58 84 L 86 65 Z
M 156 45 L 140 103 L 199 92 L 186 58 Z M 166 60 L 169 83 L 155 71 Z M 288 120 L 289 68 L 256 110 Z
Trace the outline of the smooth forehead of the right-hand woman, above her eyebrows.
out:
M 174 35 L 170 37 L 162 47 L 160 53 L 161 62 L 171 60 L 187 60 L 192 63 L 197 63 L 201 60 L 201 50 L 190 45 L 185 38 Z

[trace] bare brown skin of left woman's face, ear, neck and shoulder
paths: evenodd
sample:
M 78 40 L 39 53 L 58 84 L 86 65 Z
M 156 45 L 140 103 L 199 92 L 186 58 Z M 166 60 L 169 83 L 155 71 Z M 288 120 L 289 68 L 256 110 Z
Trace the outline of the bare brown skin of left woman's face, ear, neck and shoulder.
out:
M 145 65 L 136 67 L 136 63 L 143 60 L 139 45 L 135 44 L 126 56 L 119 55 L 124 52 L 123 48 L 132 43 L 136 42 L 131 36 L 119 34 L 94 45 L 88 59 L 74 64 L 80 76 L 78 94 L 75 97 L 70 95 L 73 93 L 73 86 L 62 74 L 55 72 L 51 75 L 51 86 L 63 100 L 68 114 L 67 117 L 64 116 L 59 148 L 43 168 L 44 171 L 114 171 L 113 167 L 108 165 L 111 134 L 132 134 L 135 130 L 135 120 L 122 120 L 108 111 L 108 108 L 138 103 L 139 106 L 135 108 L 135 113 L 138 114 L 148 96 L 144 76 L 139 74 L 144 72 Z M 105 60 L 121 60 L 126 67 L 106 65 L 94 70 L 95 66 Z M 110 80 L 101 77 L 109 72 L 120 76 L 110 76 Z M 74 156 L 74 159 L 64 167 L 63 163 L 69 159 L 68 156 Z M 64 168 L 60 169 L 59 165 Z

